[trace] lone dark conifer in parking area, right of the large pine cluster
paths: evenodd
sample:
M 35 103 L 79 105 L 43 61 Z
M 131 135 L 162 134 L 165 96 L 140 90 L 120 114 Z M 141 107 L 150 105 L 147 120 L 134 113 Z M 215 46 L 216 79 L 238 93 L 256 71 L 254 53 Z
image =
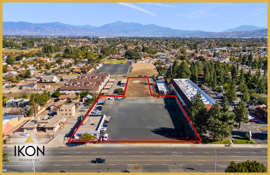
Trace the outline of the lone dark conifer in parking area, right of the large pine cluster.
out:
M 245 106 L 244 101 L 241 100 L 239 102 L 239 106 L 238 107 L 234 107 L 234 110 L 236 112 L 235 121 L 237 123 L 239 123 L 239 129 L 240 129 L 241 121 L 244 122 L 244 123 L 247 123 L 248 122 L 248 113 L 247 113 L 247 108 Z

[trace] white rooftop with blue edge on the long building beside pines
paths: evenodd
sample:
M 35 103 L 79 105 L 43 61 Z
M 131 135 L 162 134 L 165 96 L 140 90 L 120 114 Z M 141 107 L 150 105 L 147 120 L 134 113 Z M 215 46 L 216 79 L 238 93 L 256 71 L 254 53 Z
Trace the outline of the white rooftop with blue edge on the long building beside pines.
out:
M 173 79 L 180 89 L 185 93 L 187 98 L 191 101 L 191 98 L 197 94 L 199 89 L 204 104 L 216 104 L 206 93 L 204 93 L 198 86 L 196 86 L 190 79 Z

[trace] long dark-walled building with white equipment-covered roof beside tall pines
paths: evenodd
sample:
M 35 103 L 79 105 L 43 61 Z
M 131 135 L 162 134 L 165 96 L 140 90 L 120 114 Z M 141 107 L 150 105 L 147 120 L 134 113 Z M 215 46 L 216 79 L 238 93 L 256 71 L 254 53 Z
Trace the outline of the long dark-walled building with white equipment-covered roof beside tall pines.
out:
M 197 90 L 202 95 L 202 100 L 207 109 L 210 109 L 213 104 L 216 104 L 206 93 L 204 93 L 197 85 L 195 85 L 190 79 L 172 79 L 173 92 L 182 103 L 182 106 L 191 106 L 191 99 L 197 94 Z

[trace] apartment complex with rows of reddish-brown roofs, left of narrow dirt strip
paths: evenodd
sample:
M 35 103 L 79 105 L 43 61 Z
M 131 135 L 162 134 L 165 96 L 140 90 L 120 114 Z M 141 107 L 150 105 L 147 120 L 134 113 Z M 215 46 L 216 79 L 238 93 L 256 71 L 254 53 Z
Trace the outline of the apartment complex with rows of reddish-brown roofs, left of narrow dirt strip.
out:
M 110 79 L 109 73 L 80 74 L 66 85 L 60 87 L 62 94 L 79 93 L 83 90 L 93 91 L 99 94 Z

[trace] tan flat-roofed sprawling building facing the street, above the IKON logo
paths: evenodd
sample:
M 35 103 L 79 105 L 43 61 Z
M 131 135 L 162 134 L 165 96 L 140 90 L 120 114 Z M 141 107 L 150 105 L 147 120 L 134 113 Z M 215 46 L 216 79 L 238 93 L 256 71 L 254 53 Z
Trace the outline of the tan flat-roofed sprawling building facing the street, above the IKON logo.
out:
M 66 115 L 37 115 L 25 125 L 23 125 L 24 132 L 38 132 L 46 133 L 56 132 L 63 124 L 66 123 Z

